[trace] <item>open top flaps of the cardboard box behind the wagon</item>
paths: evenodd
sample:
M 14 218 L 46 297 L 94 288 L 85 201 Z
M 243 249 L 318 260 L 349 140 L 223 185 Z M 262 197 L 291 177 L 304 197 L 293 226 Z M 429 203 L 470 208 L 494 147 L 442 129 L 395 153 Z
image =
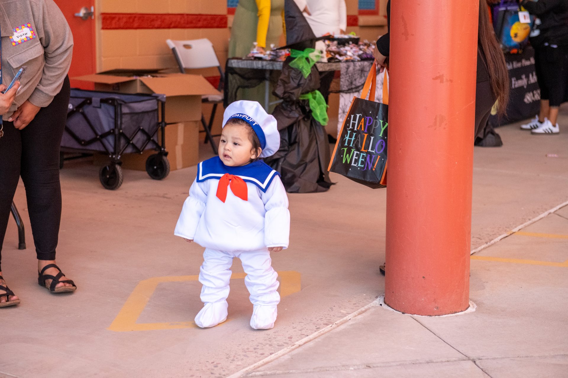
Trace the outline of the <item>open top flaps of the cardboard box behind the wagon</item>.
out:
M 140 80 L 152 92 L 166 96 L 220 95 L 220 92 L 201 75 L 157 73 L 152 74 L 151 77 L 128 77 L 108 74 L 93 74 L 75 77 L 73 79 L 110 85 L 126 83 L 131 80 Z

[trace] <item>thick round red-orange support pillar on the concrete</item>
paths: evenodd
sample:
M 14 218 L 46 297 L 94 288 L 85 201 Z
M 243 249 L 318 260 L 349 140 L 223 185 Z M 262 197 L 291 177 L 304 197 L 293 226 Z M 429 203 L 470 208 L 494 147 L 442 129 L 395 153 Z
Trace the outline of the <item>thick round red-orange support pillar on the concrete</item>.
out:
M 478 2 L 391 7 L 385 303 L 416 315 L 465 311 Z

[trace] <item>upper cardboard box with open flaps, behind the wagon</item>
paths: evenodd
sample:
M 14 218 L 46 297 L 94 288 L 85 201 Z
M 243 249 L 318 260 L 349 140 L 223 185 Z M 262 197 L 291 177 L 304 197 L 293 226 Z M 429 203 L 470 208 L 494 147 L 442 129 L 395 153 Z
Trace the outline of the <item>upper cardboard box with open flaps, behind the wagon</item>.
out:
M 73 79 L 95 83 L 95 91 L 165 95 L 168 123 L 201 120 L 201 97 L 220 95 L 201 75 L 156 70 L 113 70 Z

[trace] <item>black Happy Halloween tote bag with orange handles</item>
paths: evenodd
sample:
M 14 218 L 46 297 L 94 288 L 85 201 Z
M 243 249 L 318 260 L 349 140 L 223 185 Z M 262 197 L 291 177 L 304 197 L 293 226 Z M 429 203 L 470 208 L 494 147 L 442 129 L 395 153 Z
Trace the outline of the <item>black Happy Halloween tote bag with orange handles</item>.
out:
M 375 102 L 377 69 L 373 64 L 361 97 L 353 97 L 337 136 L 329 172 L 378 189 L 386 186 L 387 129 L 389 114 L 388 73 L 385 71 L 383 103 Z M 367 94 L 369 100 L 366 100 Z

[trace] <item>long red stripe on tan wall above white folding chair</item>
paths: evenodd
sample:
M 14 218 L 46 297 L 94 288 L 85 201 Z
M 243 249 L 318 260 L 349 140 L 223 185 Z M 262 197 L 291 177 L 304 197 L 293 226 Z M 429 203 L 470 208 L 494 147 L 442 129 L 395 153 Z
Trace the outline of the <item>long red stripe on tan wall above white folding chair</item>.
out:
M 103 29 L 226 28 L 227 15 L 102 13 Z

